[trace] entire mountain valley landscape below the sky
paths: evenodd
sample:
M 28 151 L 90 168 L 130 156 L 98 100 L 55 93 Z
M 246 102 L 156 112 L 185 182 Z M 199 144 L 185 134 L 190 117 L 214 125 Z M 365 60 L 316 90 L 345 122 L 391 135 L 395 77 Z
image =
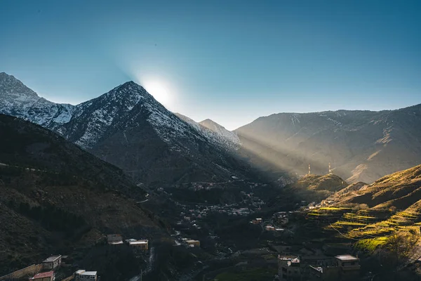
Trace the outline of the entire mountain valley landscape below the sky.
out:
M 280 113 L 228 131 L 133 81 L 63 105 L 2 72 L 0 113 L 0 276 L 52 254 L 72 260 L 60 279 L 420 273 L 420 105 Z

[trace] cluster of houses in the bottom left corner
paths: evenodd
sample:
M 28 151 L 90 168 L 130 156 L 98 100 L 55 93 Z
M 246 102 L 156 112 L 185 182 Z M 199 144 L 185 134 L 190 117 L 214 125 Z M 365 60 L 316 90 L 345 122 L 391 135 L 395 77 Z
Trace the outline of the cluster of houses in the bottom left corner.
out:
M 60 266 L 65 265 L 67 256 L 55 255 L 49 256 L 45 259 L 41 265 L 41 273 L 36 273 L 33 277 L 30 277 L 30 281 L 53 281 L 55 280 L 55 274 Z M 67 280 L 75 281 L 97 281 L 98 274 L 96 271 L 77 270 L 72 276 L 68 277 Z

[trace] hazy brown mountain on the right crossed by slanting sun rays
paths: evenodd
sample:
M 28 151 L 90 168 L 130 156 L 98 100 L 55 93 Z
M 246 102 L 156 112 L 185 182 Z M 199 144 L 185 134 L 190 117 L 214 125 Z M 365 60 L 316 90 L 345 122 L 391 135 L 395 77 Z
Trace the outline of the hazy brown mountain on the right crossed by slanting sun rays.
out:
M 333 172 L 349 183 L 372 183 L 421 163 L 421 105 L 380 112 L 279 113 L 235 131 L 239 151 L 267 171 Z

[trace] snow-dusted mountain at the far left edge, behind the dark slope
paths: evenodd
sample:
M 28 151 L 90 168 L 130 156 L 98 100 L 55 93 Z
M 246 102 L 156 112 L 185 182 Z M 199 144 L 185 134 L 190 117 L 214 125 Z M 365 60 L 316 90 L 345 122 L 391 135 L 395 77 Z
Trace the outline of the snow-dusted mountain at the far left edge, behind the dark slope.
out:
M 49 129 L 69 122 L 75 107 L 40 98 L 15 77 L 0 73 L 0 113 L 13 115 Z

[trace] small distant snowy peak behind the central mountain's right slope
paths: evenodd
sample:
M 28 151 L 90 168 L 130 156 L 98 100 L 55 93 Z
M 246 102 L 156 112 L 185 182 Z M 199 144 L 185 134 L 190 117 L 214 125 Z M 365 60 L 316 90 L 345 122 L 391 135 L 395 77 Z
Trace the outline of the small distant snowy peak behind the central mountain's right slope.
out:
M 216 145 L 220 145 L 222 148 L 228 150 L 238 150 L 240 148 L 240 140 L 236 133 L 228 131 L 220 124 L 213 122 L 210 119 L 203 120 L 202 122 L 195 122 L 193 119 L 180 113 L 175 113 L 180 119 L 187 122 L 196 131 L 206 136 L 210 141 Z

